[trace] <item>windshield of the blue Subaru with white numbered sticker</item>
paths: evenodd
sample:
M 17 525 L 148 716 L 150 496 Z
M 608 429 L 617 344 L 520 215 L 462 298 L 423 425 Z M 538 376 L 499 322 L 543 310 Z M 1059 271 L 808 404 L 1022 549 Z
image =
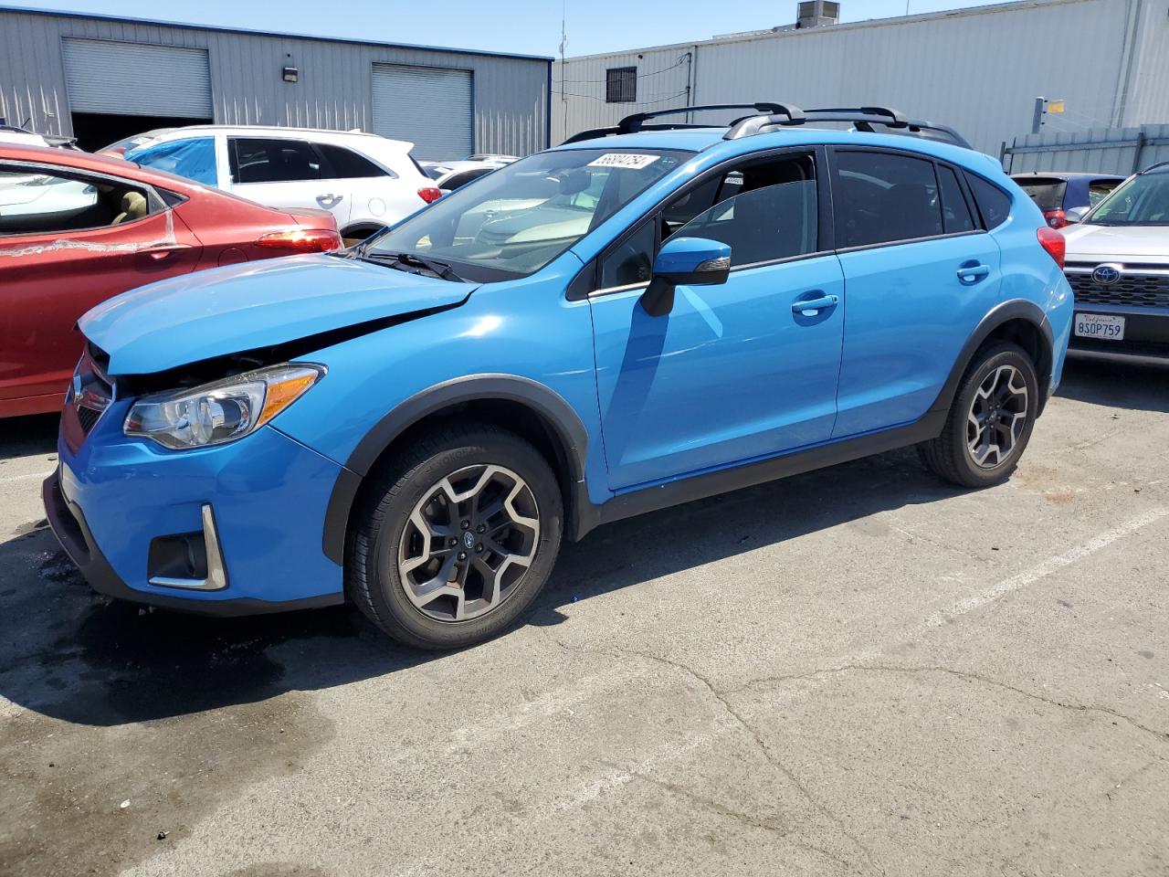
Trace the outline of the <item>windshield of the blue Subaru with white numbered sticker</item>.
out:
M 359 251 L 443 262 L 469 281 L 533 274 L 575 244 L 691 153 L 558 150 L 494 171 Z

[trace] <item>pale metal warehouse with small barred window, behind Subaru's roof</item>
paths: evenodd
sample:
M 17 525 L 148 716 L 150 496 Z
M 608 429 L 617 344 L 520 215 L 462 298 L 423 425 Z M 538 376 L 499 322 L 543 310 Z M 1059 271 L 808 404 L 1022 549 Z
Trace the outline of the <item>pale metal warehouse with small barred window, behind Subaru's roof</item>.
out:
M 1169 0 L 1037 0 L 848 25 L 805 6 L 798 27 L 555 63 L 553 141 L 634 112 L 754 101 L 893 106 L 992 154 L 1031 131 L 1037 97 L 1064 101 L 1045 132 L 1169 122 Z

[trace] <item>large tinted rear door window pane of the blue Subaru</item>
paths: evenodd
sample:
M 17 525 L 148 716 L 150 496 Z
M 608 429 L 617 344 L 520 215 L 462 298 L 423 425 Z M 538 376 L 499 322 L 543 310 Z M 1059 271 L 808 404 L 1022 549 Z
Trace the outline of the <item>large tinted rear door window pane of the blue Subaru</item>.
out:
M 842 247 L 942 234 L 932 161 L 888 152 L 838 151 L 836 174 L 832 194 Z

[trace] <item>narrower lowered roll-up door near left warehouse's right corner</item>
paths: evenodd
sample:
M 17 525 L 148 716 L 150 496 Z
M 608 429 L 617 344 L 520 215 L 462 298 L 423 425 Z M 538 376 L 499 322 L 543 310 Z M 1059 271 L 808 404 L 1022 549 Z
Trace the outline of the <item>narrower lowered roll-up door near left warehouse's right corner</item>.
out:
M 413 143 L 415 158 L 466 158 L 475 152 L 471 71 L 374 64 L 373 130 Z

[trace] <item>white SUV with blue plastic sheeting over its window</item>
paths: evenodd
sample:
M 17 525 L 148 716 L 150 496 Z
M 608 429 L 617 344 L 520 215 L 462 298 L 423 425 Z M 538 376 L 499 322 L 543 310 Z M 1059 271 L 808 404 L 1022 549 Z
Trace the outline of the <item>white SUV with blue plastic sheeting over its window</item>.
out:
M 361 131 L 192 125 L 127 151 L 146 167 L 269 207 L 320 207 L 341 237 L 368 237 L 441 195 L 410 157 L 414 144 Z

